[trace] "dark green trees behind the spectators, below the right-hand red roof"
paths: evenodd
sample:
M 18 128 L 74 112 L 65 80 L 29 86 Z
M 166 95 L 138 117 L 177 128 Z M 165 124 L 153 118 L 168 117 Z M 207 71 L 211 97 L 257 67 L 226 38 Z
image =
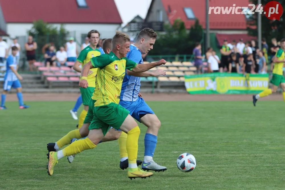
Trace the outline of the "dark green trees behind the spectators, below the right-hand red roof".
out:
M 202 39 L 202 32 L 198 20 L 188 32 L 184 22 L 176 19 L 172 25 L 164 25 L 164 32 L 158 33 L 155 48 L 149 52 L 149 55 L 192 54 L 195 43 Z

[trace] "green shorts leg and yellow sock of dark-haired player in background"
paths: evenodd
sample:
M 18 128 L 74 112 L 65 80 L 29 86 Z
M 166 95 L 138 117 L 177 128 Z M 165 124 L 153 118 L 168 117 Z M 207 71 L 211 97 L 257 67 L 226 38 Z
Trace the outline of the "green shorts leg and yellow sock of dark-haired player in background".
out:
M 83 125 L 84 119 L 85 119 L 87 112 L 88 112 L 89 101 L 92 97 L 94 89 L 95 89 L 94 87 L 80 88 L 80 92 L 82 95 L 82 103 L 84 105 L 84 109 L 82 110 L 82 112 L 80 113 L 80 116 L 79 116 L 78 129 L 80 129 Z

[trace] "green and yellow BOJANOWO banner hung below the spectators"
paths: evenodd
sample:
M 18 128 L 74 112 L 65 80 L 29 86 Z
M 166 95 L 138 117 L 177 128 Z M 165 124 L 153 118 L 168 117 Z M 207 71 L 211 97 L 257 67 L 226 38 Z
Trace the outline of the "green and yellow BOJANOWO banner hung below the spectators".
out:
M 257 94 L 268 88 L 268 74 L 207 73 L 185 75 L 190 94 Z

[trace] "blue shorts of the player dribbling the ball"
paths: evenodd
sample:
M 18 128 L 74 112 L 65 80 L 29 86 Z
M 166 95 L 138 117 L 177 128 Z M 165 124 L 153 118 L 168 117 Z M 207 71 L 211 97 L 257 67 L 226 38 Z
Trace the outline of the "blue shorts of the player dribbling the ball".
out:
M 141 97 L 139 97 L 134 102 L 120 100 L 119 105 L 129 110 L 130 115 L 140 123 L 140 114 L 154 114 L 152 109 L 146 104 L 146 102 Z M 118 130 L 120 131 L 120 129 Z

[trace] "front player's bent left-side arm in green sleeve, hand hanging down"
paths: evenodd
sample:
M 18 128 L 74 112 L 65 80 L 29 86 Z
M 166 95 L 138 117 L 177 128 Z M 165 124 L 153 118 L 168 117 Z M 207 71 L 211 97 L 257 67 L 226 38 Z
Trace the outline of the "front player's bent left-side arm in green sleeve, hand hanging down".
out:
M 87 75 L 90 69 L 103 68 L 109 64 L 110 64 L 110 57 L 107 54 L 91 58 L 91 60 L 87 64 L 85 64 L 84 67 L 82 68 L 79 86 L 82 88 L 88 87 Z

